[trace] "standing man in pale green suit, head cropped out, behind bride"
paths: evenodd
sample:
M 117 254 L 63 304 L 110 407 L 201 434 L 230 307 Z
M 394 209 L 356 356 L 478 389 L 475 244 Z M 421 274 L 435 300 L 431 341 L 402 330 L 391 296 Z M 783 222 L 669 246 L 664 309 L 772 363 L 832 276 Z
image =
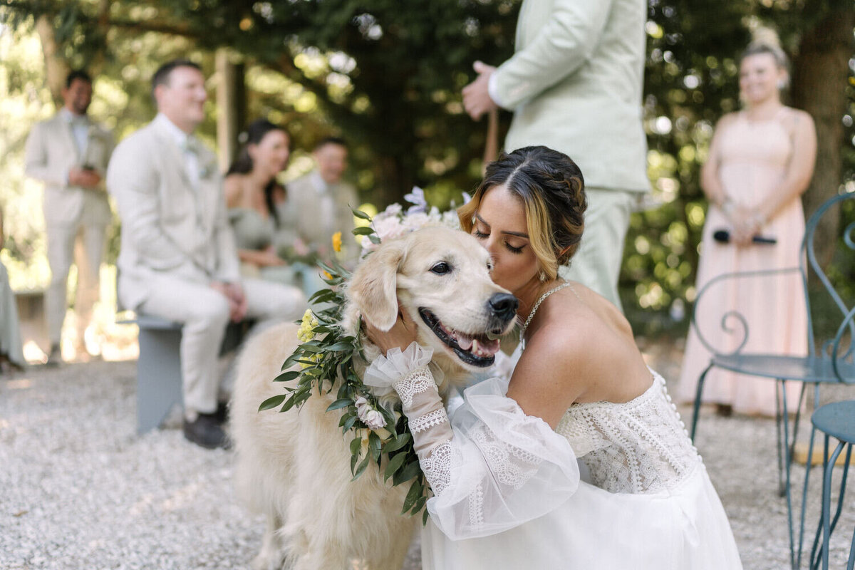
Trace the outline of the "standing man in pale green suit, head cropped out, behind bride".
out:
M 514 111 L 506 150 L 542 144 L 569 155 L 585 177 L 581 247 L 560 273 L 618 307 L 617 277 L 629 214 L 649 190 L 641 124 L 645 0 L 523 0 L 516 52 L 463 89 L 477 120 Z

